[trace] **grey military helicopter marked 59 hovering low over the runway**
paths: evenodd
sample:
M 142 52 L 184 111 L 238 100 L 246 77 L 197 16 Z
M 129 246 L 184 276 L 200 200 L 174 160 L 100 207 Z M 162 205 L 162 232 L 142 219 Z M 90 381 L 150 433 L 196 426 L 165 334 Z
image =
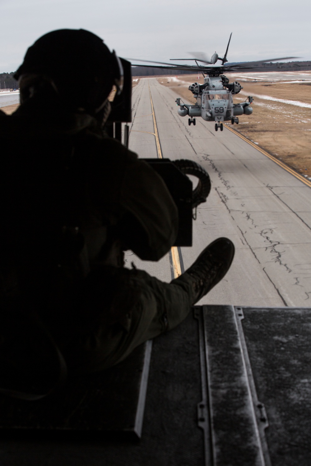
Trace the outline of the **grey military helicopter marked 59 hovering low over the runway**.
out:
M 218 128 L 223 130 L 223 122 L 231 121 L 232 124 L 239 123 L 240 115 L 251 115 L 253 109 L 250 104 L 253 102 L 253 97 L 249 96 L 248 101 L 242 103 L 233 103 L 233 96 L 238 94 L 242 88 L 241 84 L 237 81 L 229 83 L 229 79 L 224 75 L 225 72 L 234 72 L 247 69 L 254 69 L 256 66 L 256 71 L 261 71 L 258 67 L 259 65 L 265 62 L 275 62 L 277 60 L 284 60 L 285 58 L 297 58 L 297 57 L 283 57 L 283 58 L 272 58 L 269 60 L 259 60 L 256 62 L 240 62 L 235 63 L 234 65 L 225 65 L 227 60 L 228 48 L 231 40 L 231 35 L 229 37 L 226 53 L 223 58 L 219 57 L 215 52 L 212 55 L 210 60 L 207 60 L 207 57 L 202 52 L 193 52 L 192 55 L 194 58 L 173 58 L 171 60 L 194 60 L 196 66 L 192 65 L 179 65 L 175 63 L 165 63 L 165 62 L 152 62 L 149 60 L 137 60 L 138 62 L 149 62 L 149 63 L 158 63 L 161 65 L 170 65 L 166 66 L 152 66 L 152 65 L 132 65 L 132 66 L 144 66 L 144 67 L 153 67 L 153 68 L 162 68 L 162 69 L 174 69 L 174 70 L 188 70 L 198 72 L 200 71 L 204 76 L 204 83 L 198 84 L 194 82 L 189 86 L 189 90 L 194 94 L 196 103 L 190 105 L 187 103 L 180 103 L 181 98 L 176 99 L 177 105 L 180 107 L 178 109 L 178 114 L 181 117 L 189 116 L 188 124 L 191 123 L 195 125 L 195 117 L 201 117 L 205 121 L 214 121 L 215 130 Z M 133 60 L 133 59 L 129 59 Z M 215 65 L 217 61 L 221 61 L 221 66 L 210 66 Z M 198 62 L 203 62 L 205 65 L 199 65 Z M 208 66 L 209 65 L 209 66 Z M 272 70 L 270 68 L 270 70 Z

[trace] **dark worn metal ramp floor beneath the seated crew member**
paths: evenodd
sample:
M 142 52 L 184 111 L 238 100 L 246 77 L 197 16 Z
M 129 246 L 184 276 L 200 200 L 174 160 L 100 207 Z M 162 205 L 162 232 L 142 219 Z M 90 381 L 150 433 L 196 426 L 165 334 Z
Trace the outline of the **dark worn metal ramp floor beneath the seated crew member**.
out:
M 0 464 L 309 466 L 310 342 L 311 308 L 196 306 L 151 360 L 147 343 L 49 408 L 1 398 Z

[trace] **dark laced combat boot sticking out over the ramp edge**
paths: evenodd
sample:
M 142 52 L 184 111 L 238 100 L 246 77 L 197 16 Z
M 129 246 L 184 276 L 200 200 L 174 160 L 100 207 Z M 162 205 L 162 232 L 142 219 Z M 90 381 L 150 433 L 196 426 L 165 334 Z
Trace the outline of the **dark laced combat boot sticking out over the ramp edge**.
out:
M 231 266 L 234 254 L 235 247 L 232 241 L 218 238 L 209 244 L 192 266 L 172 283 L 181 286 L 190 284 L 192 304 L 195 304 L 223 279 Z

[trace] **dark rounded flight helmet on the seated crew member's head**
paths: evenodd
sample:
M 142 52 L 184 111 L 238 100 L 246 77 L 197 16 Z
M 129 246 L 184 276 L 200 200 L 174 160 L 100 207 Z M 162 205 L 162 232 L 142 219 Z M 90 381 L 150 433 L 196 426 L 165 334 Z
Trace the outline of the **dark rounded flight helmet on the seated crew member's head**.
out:
M 115 51 L 84 29 L 59 29 L 28 48 L 14 75 L 21 102 L 47 84 L 73 109 L 96 115 L 107 103 L 113 85 L 123 87 L 123 68 Z M 44 87 L 44 86 L 43 86 Z

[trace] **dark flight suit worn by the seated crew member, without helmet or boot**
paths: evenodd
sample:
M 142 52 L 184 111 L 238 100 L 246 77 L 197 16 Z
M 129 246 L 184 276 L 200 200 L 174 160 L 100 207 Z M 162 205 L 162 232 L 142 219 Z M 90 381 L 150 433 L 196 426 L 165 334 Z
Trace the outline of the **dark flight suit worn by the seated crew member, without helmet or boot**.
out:
M 10 232 L 2 228 L 2 243 L 31 277 L 24 288 L 38 297 L 69 371 L 110 367 L 181 322 L 193 302 L 191 283 L 163 283 L 103 259 L 115 238 L 143 260 L 159 260 L 173 245 L 178 212 L 157 173 L 104 137 L 94 118 L 70 113 L 55 100 L 43 105 L 32 98 L 12 116 L 1 116 L 1 125 L 0 216 Z M 48 291 L 46 272 L 54 267 L 53 232 L 61 225 L 83 237 L 82 278 L 70 284 L 64 300 Z

